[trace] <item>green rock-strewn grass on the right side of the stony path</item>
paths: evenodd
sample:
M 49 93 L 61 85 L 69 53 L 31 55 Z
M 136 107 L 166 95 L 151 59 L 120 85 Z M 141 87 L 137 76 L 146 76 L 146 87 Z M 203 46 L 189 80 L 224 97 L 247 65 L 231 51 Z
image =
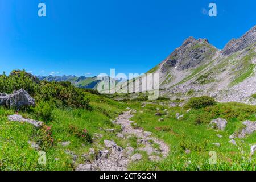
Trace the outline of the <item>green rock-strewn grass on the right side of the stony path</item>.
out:
M 158 122 L 156 107 L 168 109 L 169 115 L 164 122 Z M 191 110 L 188 114 L 180 107 L 163 107 L 160 105 L 147 106 L 143 113 L 137 112 L 133 118 L 139 127 L 154 133 L 170 146 L 170 155 L 160 162 L 150 162 L 147 157 L 141 162 L 131 164 L 132 170 L 255 170 L 255 158 L 249 162 L 250 144 L 255 142 L 256 133 L 245 139 L 236 139 L 237 146 L 229 143 L 229 135 L 241 129 L 242 121 L 250 119 L 256 121 L 255 106 L 242 104 L 218 104 L 208 109 Z M 177 121 L 175 114 L 184 114 L 181 121 Z M 208 128 L 213 118 L 226 118 L 228 125 L 225 131 L 214 131 Z M 201 118 L 201 124 L 196 124 Z M 218 138 L 216 134 L 223 137 Z M 220 143 L 214 146 L 212 143 Z M 185 154 L 185 148 L 191 154 Z M 209 165 L 209 152 L 217 152 L 217 165 Z M 191 163 L 191 164 L 189 164 Z

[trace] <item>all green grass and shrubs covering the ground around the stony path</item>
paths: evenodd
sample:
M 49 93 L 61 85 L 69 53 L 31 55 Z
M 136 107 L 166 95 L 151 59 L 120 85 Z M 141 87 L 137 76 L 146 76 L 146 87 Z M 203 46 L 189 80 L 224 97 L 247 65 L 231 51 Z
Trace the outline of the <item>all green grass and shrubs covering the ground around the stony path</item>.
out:
M 1 75 L 0 92 L 11 93 L 25 88 L 36 100 L 36 106 L 19 111 L 24 118 L 43 121 L 35 128 L 22 122 L 10 122 L 8 115 L 16 111 L 0 107 L 0 170 L 73 170 L 85 163 L 83 154 L 95 148 L 102 150 L 104 140 L 114 140 L 118 146 L 134 147 L 142 154 L 139 162 L 130 163 L 131 170 L 255 170 L 255 155 L 250 161 L 250 145 L 255 143 L 256 133 L 246 138 L 236 138 L 237 146 L 229 143 L 229 135 L 240 131 L 245 120 L 256 121 L 256 106 L 238 103 L 216 103 L 213 98 L 202 96 L 191 98 L 184 107 L 170 107 L 183 100 L 159 98 L 148 101 L 147 93 L 134 98 L 130 94 L 102 96 L 94 90 L 79 89 L 69 82 L 37 82 L 34 78 L 19 72 L 19 75 Z M 189 90 L 187 95 L 192 95 Z M 123 97 L 123 101 L 113 98 Z M 254 96 L 252 96 L 254 97 Z M 130 98 L 133 98 L 130 100 Z M 127 107 L 136 109 L 133 127 L 151 131 L 154 137 L 163 140 L 170 147 L 167 158 L 158 162 L 148 160 L 137 138 L 118 138 L 121 131 L 112 119 L 123 113 Z M 189 112 L 187 109 L 192 108 Z M 156 115 L 156 113 L 159 113 Z M 176 113 L 184 115 L 179 120 Z M 159 121 L 163 118 L 163 121 Z M 212 119 L 224 118 L 228 125 L 224 131 L 208 127 Z M 106 129 L 115 129 L 108 132 Z M 223 137 L 218 138 L 216 134 Z M 102 137 L 96 137 L 102 135 Z M 31 147 L 37 143 L 39 149 Z M 63 142 L 70 142 L 68 146 Z M 212 143 L 220 143 L 220 147 Z M 158 144 L 154 144 L 159 148 Z M 39 150 L 46 152 L 46 165 L 39 164 Z M 191 153 L 186 154 L 185 150 Z M 209 164 L 209 152 L 216 151 L 217 164 Z M 76 155 L 76 160 L 73 160 Z

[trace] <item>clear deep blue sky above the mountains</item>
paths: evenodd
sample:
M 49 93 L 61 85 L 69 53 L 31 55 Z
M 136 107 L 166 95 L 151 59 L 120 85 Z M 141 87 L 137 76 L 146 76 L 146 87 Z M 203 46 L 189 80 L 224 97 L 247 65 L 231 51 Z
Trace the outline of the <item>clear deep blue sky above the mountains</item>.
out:
M 216 18 L 203 13 L 210 2 Z M 0 0 L 0 72 L 143 73 L 188 36 L 223 48 L 256 24 L 255 7 L 255 0 Z

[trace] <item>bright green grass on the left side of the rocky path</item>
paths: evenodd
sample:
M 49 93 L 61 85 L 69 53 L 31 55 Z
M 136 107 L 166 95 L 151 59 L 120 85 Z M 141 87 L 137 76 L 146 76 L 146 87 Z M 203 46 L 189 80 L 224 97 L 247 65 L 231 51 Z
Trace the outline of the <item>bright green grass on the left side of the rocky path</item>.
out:
M 28 140 L 35 140 L 36 129 L 27 123 L 7 121 L 7 115 L 14 114 L 14 111 L 0 107 L 0 170 L 72 170 L 77 163 L 82 163 L 82 154 L 88 152 L 89 148 L 95 147 L 92 143 L 85 143 L 81 138 L 69 132 L 69 126 L 76 126 L 79 129 L 86 129 L 90 134 L 104 134 L 98 143 L 103 144 L 104 139 L 115 139 L 115 134 L 110 134 L 103 129 L 117 128 L 113 126 L 110 119 L 116 117 L 124 110 L 125 105 L 117 104 L 105 97 L 91 95 L 93 111 L 83 109 L 54 109 L 51 121 L 47 122 L 52 128 L 54 145 L 46 151 L 47 164 L 38 164 L 38 151 L 35 151 L 28 144 Z M 101 100 L 100 103 L 98 100 Z M 118 106 L 118 107 L 117 107 Z M 20 113 L 23 117 L 34 118 L 29 113 Z M 64 147 L 60 142 L 71 141 L 71 144 Z M 75 165 L 72 164 L 72 156 L 65 154 L 70 150 L 78 156 Z M 59 160 L 55 160 L 58 158 Z

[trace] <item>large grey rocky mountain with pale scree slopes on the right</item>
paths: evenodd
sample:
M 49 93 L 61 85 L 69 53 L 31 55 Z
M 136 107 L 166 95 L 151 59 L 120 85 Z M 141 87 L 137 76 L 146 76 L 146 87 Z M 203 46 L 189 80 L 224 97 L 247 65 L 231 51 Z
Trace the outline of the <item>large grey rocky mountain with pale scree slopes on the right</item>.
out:
M 256 104 L 256 26 L 218 50 L 207 39 L 189 37 L 148 73 L 159 73 L 160 96 L 208 95 L 222 102 Z

